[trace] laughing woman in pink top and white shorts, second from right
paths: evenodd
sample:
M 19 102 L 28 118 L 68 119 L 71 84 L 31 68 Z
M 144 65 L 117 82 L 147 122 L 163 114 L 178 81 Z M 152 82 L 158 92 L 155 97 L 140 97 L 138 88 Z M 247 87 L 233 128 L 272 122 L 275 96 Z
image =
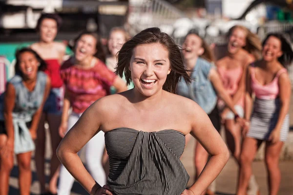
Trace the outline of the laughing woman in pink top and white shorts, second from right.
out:
M 259 59 L 261 42 L 246 27 L 239 25 L 233 26 L 228 36 L 227 54 L 216 64 L 224 87 L 233 99 L 235 110 L 240 117 L 243 117 L 245 73 L 247 66 L 255 59 Z M 234 114 L 227 108 L 222 99 L 218 100 L 218 107 L 222 111 L 221 117 L 226 131 L 228 147 L 233 157 L 239 162 L 241 126 L 235 123 Z M 252 176 L 247 193 L 256 194 L 257 191 L 259 191 L 259 188 L 254 176 Z

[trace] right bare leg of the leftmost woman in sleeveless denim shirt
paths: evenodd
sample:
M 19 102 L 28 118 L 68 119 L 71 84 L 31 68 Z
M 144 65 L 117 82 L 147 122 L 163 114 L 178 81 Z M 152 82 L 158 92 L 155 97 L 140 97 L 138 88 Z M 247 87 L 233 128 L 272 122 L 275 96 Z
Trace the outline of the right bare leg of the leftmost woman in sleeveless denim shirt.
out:
M 20 170 L 19 186 L 21 195 L 30 195 L 30 187 L 32 183 L 31 157 L 32 152 L 17 155 Z

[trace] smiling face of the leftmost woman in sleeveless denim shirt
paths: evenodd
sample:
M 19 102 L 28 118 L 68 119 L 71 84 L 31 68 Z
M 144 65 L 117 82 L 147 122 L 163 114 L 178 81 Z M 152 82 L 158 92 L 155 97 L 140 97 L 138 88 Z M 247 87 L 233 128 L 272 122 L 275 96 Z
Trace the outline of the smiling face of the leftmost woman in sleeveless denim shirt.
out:
M 22 76 L 27 79 L 34 79 L 37 77 L 40 62 L 36 56 L 31 52 L 23 52 L 19 57 L 19 66 Z

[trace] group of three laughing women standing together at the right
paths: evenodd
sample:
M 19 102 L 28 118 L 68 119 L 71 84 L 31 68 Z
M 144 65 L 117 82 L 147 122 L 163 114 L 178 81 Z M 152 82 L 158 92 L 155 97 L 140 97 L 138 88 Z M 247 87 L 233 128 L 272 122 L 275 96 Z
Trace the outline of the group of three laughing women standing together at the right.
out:
M 291 84 L 285 67 L 293 59 L 290 43 L 282 35 L 269 34 L 261 45 L 256 35 L 236 25 L 228 33 L 226 55 L 217 61 L 194 31 L 188 33 L 183 49 L 185 66 L 194 80 L 179 82 L 177 93 L 196 101 L 218 131 L 222 121 L 228 147 L 239 164 L 237 195 L 260 194 L 251 163 L 263 141 L 270 195 L 277 195 L 278 160 L 289 131 Z M 244 119 L 235 120 L 238 117 Z M 208 156 L 196 143 L 196 177 Z M 212 195 L 214 190 L 208 188 L 205 193 Z

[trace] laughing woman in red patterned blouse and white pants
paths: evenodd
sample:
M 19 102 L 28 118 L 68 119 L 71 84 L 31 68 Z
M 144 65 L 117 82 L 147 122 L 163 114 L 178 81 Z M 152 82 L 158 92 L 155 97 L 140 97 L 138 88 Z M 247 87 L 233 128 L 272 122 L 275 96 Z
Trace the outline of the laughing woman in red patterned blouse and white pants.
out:
M 74 56 L 61 67 L 61 77 L 66 87 L 59 128 L 61 137 L 64 137 L 94 101 L 109 95 L 110 86 L 114 86 L 118 92 L 127 90 L 126 83 L 107 69 L 100 38 L 96 33 L 84 32 L 78 36 L 74 50 Z M 68 116 L 70 106 L 72 113 Z M 104 133 L 101 132 L 86 144 L 85 156 L 91 175 L 99 183 L 105 184 L 106 177 L 102 165 L 104 148 Z M 74 178 L 62 165 L 58 194 L 69 195 L 73 182 Z

